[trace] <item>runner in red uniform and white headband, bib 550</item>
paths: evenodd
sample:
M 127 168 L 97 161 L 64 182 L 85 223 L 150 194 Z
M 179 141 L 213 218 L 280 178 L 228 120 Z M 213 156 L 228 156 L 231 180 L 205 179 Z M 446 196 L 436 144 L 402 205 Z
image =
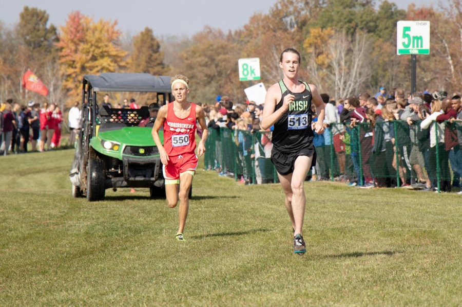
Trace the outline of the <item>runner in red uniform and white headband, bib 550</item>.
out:
M 187 100 L 189 79 L 183 75 L 176 75 L 170 83 L 175 101 L 163 105 L 159 109 L 156 122 L 152 127 L 152 138 L 159 149 L 163 164 L 167 204 L 170 208 L 174 208 L 177 206 L 178 198 L 180 199 L 176 239 L 183 241 L 184 225 L 189 209 L 188 194 L 192 177 L 197 168 L 197 156 L 194 152 L 196 149 L 196 122 L 198 121 L 203 129 L 197 150 L 199 156 L 205 152 L 208 129 L 202 107 Z M 159 138 L 161 127 L 164 130 L 163 145 Z

